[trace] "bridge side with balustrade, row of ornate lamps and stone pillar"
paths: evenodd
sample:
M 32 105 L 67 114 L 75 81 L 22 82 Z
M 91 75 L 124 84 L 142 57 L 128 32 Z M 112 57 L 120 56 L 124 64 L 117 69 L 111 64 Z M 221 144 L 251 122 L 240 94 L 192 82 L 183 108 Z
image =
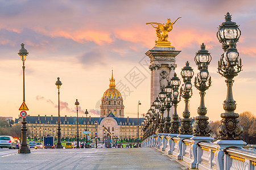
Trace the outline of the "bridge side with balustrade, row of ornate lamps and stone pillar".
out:
M 172 24 L 172 23 L 171 23 Z M 256 152 L 245 150 L 246 145 L 241 135 L 243 128 L 238 124 L 239 115 L 235 113 L 236 101 L 233 99 L 233 78 L 242 70 L 242 63 L 236 45 L 241 31 L 232 22 L 229 12 L 217 32 L 224 53 L 218 61 L 218 73 L 226 80 L 227 96 L 224 101 L 225 112 L 221 114 L 221 125 L 217 129 L 220 136 L 213 141 L 210 137 L 207 109 L 204 104 L 205 91 L 212 80 L 208 65 L 212 59 L 204 43 L 196 53 L 195 62 L 199 73 L 194 86 L 200 91 L 201 101 L 197 109 L 198 116 L 192 127 L 188 103 L 192 96 L 193 70 L 189 62 L 181 70 L 183 84 L 174 73 L 175 56 L 180 53 L 172 46 L 156 46 L 146 55 L 151 59 L 151 107 L 144 118 L 142 147 L 155 147 L 182 160 L 190 168 L 198 169 L 256 169 Z M 168 80 L 168 77 L 170 78 Z M 183 118 L 177 115 L 177 104 L 185 101 Z M 172 107 L 173 106 L 173 107 Z M 174 108 L 172 117 L 170 110 Z

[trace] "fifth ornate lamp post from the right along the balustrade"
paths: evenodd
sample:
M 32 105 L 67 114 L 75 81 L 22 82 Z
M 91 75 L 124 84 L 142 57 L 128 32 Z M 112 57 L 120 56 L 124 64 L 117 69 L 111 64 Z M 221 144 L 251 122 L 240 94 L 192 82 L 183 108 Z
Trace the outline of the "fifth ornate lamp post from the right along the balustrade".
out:
M 169 133 L 170 126 L 171 126 L 170 108 L 172 107 L 172 104 L 171 104 L 172 87 L 170 82 L 168 82 L 168 85 L 164 88 L 164 91 L 166 92 L 165 100 L 166 100 L 166 109 L 167 109 L 166 122 L 164 122 L 164 133 Z

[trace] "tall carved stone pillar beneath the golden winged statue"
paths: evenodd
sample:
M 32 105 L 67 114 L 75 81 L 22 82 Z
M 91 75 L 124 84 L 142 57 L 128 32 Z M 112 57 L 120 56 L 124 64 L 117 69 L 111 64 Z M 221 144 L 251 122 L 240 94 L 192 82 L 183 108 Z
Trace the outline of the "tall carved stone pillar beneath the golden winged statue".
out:
M 151 94 L 150 105 L 158 97 L 162 87 L 167 85 L 167 81 L 174 76 L 174 69 L 177 67 L 175 64 L 175 57 L 181 51 L 175 50 L 174 47 L 167 46 L 155 46 L 151 50 L 148 50 L 145 54 L 150 57 L 151 70 Z M 164 113 L 166 117 L 167 112 Z M 171 108 L 170 116 L 174 114 L 174 109 Z

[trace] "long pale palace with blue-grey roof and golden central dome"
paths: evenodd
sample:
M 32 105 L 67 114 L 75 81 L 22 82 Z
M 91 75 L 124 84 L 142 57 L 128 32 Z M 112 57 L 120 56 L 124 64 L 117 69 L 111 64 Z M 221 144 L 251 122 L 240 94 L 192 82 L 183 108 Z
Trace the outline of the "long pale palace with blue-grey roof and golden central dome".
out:
M 101 100 L 100 117 L 79 117 L 79 136 L 86 137 L 84 131 L 90 131 L 89 137 L 94 137 L 97 131 L 98 137 L 102 140 L 105 138 L 106 132 L 104 127 L 108 129 L 112 136 L 119 139 L 137 139 L 138 125 L 139 136 L 143 135 L 141 122 L 144 118 L 125 118 L 123 98 L 121 93 L 115 88 L 115 79 L 110 79 L 109 89 L 106 90 Z M 97 125 L 94 123 L 97 121 Z M 22 126 L 22 117 L 15 119 L 16 126 Z M 30 137 L 43 137 L 46 135 L 57 136 L 58 117 L 55 116 L 27 116 L 27 127 Z M 76 137 L 77 135 L 77 117 L 60 117 L 61 138 Z M 87 129 L 86 129 L 87 127 Z

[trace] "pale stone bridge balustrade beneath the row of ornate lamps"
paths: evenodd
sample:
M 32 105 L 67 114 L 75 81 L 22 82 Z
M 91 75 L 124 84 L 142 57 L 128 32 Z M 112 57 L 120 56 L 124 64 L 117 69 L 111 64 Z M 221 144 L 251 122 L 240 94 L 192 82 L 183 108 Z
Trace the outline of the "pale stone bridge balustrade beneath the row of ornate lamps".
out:
M 256 152 L 242 147 L 220 147 L 216 143 L 193 138 L 180 138 L 179 134 L 152 135 L 142 142 L 142 147 L 155 147 L 190 168 L 220 170 L 256 170 Z

